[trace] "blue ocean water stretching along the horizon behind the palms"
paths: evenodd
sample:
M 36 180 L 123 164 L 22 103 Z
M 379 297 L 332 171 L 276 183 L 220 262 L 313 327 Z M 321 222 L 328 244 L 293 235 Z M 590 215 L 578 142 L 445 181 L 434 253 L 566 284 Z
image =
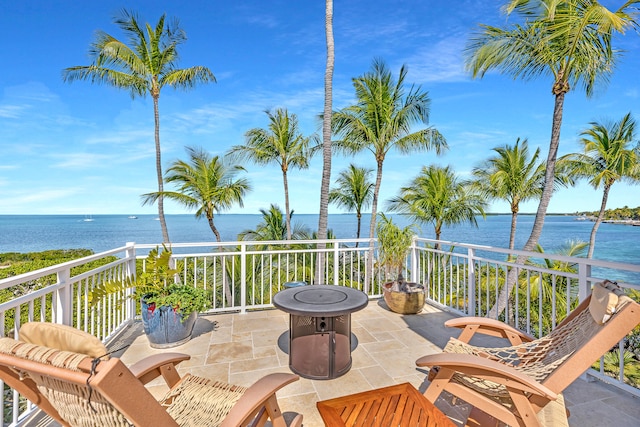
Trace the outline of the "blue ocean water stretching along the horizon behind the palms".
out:
M 35 252 L 47 249 L 92 249 L 102 252 L 127 242 L 157 244 L 162 242 L 160 222 L 156 215 L 0 215 L 0 253 Z M 173 243 L 213 242 L 215 237 L 206 220 L 193 215 L 167 215 L 169 237 Z M 408 224 L 394 215 L 399 225 Z M 92 221 L 86 221 L 92 219 Z M 241 231 L 254 229 L 261 215 L 221 214 L 214 218 L 222 239 L 235 241 Z M 370 215 L 363 215 L 361 237 L 369 235 Z M 293 223 L 310 230 L 317 229 L 318 216 L 294 214 Z M 441 239 L 506 248 L 509 245 L 510 215 L 478 217 L 478 227 L 459 225 L 445 228 Z M 533 215 L 519 215 L 516 248 L 522 247 L 533 226 Z M 329 215 L 329 228 L 338 238 L 355 238 L 357 219 L 354 214 Z M 549 215 L 545 219 L 540 244 L 545 252 L 553 252 L 571 240 L 589 241 L 593 223 L 576 221 L 573 216 Z M 433 227 L 424 225 L 422 237 L 434 238 Z M 623 224 L 601 224 L 598 230 L 594 258 L 640 264 L 640 227 Z

